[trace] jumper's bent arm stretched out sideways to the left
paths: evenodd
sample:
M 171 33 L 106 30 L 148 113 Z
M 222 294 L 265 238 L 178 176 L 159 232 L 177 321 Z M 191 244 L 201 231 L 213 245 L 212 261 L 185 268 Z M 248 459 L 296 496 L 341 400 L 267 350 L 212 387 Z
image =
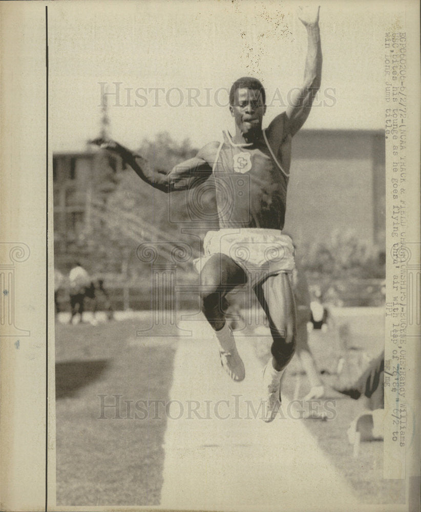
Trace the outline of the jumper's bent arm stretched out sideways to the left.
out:
M 92 140 L 91 144 L 116 153 L 144 182 L 166 193 L 193 188 L 206 180 L 212 174 L 212 166 L 219 145 L 218 142 L 209 142 L 194 158 L 176 165 L 168 173 L 162 173 L 154 169 L 141 155 L 128 150 L 114 140 L 98 138 Z

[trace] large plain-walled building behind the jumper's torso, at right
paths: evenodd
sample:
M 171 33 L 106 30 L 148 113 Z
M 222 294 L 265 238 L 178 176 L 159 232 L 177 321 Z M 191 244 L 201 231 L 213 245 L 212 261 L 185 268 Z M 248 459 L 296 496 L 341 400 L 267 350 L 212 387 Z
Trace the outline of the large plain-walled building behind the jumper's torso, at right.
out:
M 383 248 L 385 173 L 384 132 L 302 130 L 292 141 L 285 230 L 302 243 L 354 228 Z

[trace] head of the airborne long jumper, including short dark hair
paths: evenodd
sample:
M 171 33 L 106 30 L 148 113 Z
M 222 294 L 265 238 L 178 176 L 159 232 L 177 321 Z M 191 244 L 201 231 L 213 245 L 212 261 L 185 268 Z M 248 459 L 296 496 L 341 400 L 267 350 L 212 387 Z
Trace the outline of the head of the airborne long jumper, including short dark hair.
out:
M 229 110 L 245 139 L 253 139 L 262 130 L 266 112 L 266 93 L 257 78 L 244 76 L 229 91 Z

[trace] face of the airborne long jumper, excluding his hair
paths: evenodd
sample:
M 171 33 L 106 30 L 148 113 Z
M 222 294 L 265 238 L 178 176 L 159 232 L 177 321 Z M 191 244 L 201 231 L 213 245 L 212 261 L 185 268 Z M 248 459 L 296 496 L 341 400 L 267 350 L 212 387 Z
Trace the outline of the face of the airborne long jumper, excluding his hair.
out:
M 234 105 L 229 105 L 231 116 L 242 135 L 252 139 L 262 130 L 262 120 L 266 112 L 260 91 L 256 89 L 237 89 Z

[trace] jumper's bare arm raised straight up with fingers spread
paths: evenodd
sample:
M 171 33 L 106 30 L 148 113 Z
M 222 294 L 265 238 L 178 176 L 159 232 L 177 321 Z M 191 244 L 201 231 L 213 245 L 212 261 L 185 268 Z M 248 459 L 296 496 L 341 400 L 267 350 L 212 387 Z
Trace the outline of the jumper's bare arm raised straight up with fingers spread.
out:
M 299 8 L 298 17 L 307 29 L 308 47 L 304 82 L 287 106 L 288 132 L 295 135 L 306 121 L 322 79 L 322 47 L 319 31 L 320 7 Z

